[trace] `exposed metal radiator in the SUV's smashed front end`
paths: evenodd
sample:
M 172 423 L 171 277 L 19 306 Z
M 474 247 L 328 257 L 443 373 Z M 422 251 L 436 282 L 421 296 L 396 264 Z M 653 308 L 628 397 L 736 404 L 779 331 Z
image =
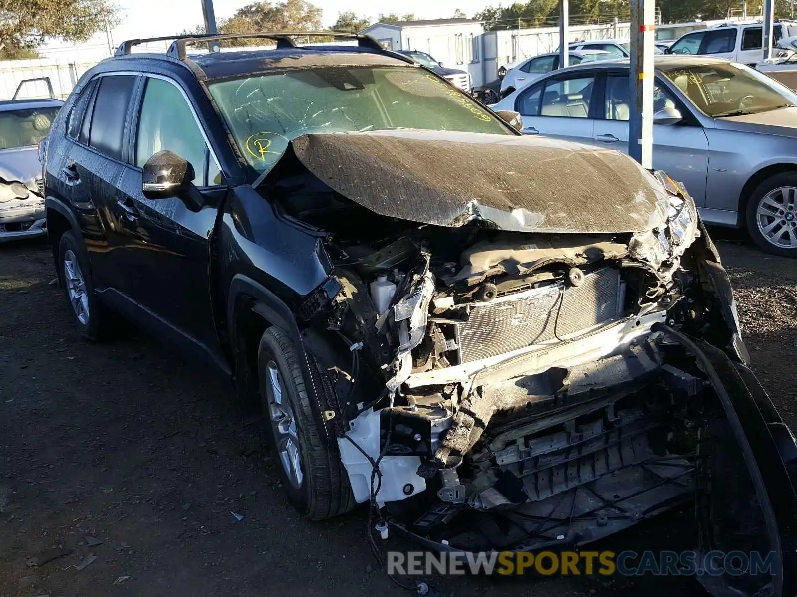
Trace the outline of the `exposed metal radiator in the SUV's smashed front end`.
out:
M 580 286 L 556 283 L 469 306 L 457 326 L 461 363 L 564 338 L 617 317 L 622 310 L 619 271 L 602 267 Z

